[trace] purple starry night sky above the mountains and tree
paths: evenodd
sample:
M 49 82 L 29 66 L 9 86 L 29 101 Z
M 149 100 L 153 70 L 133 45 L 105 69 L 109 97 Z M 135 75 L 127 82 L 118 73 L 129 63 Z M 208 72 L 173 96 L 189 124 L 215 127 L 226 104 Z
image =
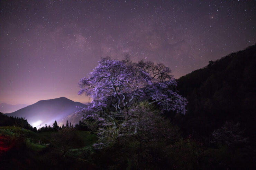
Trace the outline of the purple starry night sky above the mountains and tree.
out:
M 256 42 L 254 0 L 0 1 L 0 103 L 78 96 L 101 57 L 162 62 L 175 78 Z

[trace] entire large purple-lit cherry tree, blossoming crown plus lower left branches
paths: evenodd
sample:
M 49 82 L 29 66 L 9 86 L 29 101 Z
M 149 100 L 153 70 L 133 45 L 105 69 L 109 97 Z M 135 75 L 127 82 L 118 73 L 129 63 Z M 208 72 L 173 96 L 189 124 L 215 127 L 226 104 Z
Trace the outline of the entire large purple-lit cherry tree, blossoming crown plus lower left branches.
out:
M 177 93 L 177 81 L 170 73 L 162 63 L 143 60 L 134 63 L 129 56 L 123 61 L 102 58 L 79 82 L 79 94 L 92 100 L 80 112 L 86 114 L 85 120 L 94 121 L 100 127 L 99 136 L 112 134 L 112 139 L 122 135 L 119 130 L 128 121 L 135 120 L 130 119 L 129 109 L 137 102 L 147 100 L 149 104 L 157 104 L 161 112 L 173 110 L 185 114 L 187 101 Z M 134 124 L 136 134 L 137 123 Z

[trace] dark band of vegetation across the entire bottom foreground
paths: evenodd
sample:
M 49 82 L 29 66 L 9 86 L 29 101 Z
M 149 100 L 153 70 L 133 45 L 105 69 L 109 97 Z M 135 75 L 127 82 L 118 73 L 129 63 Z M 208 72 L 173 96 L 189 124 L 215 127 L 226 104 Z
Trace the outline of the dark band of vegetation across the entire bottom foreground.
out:
M 149 113 L 157 110 L 143 103 L 137 111 Z M 143 126 L 141 124 L 141 128 Z M 226 129 L 234 128 L 236 124 L 227 126 Z M 246 140 L 240 144 L 235 143 L 238 138 L 233 138 L 232 144 L 217 140 L 207 147 L 191 136 L 182 137 L 179 128 L 170 122 L 156 122 L 153 128 L 158 130 L 138 129 L 134 136 L 119 137 L 109 147 L 95 150 L 92 145 L 97 136 L 89 131 L 66 128 L 35 133 L 20 127 L 0 127 L 0 169 L 187 170 L 254 167 L 255 155 Z M 171 130 L 171 137 L 170 134 L 168 137 L 165 135 L 168 130 Z M 228 130 L 236 132 L 236 129 Z M 232 138 L 231 135 L 226 137 Z M 244 138 L 240 136 L 239 139 Z M 38 144 L 38 140 L 42 144 Z

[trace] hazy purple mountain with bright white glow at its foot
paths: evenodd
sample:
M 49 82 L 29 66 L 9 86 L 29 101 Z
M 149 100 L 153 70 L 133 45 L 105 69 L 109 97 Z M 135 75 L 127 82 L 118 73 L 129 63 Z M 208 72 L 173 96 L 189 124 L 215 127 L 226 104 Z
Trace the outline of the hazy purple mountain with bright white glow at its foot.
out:
M 40 125 L 45 126 L 45 124 L 52 126 L 55 120 L 60 122 L 68 115 L 76 112 L 76 106 L 85 107 L 86 105 L 61 97 L 57 99 L 40 100 L 25 108 L 7 114 L 13 117 L 25 117 L 29 124 L 38 128 Z

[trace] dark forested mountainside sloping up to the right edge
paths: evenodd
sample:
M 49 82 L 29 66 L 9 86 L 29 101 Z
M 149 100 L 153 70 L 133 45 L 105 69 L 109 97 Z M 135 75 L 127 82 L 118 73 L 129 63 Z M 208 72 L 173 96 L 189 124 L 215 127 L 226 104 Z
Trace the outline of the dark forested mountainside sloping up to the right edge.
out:
M 186 135 L 203 136 L 209 143 L 214 129 L 232 121 L 256 139 L 256 45 L 209 61 L 178 79 L 177 89 L 188 99 L 188 111 L 171 115 Z

